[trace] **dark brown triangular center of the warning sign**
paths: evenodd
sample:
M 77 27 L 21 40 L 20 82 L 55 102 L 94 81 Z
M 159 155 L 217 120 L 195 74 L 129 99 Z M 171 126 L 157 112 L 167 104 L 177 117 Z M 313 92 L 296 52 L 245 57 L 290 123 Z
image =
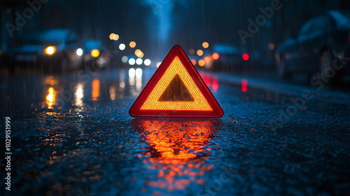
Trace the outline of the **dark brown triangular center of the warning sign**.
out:
M 169 83 L 162 96 L 158 99 L 158 102 L 194 102 L 190 92 L 181 80 L 179 74 L 176 74 L 172 81 Z

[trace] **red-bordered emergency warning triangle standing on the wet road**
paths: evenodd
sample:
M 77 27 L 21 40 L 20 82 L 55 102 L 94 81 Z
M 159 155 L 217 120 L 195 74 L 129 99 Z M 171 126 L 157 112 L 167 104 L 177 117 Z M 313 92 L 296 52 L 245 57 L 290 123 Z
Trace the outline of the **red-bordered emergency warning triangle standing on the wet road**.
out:
M 130 116 L 220 118 L 223 109 L 179 45 L 175 45 L 129 110 Z

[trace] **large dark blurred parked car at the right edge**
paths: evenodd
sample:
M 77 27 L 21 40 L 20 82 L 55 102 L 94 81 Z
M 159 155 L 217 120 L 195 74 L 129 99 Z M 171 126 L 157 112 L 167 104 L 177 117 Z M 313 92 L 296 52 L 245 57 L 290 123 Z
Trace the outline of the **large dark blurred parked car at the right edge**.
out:
M 307 73 L 311 78 L 321 73 L 329 80 L 337 80 L 349 73 L 345 57 L 350 57 L 349 10 L 328 10 L 311 18 L 296 38 L 281 43 L 275 53 L 279 78 L 290 78 L 295 73 Z M 344 67 L 338 70 L 340 63 Z

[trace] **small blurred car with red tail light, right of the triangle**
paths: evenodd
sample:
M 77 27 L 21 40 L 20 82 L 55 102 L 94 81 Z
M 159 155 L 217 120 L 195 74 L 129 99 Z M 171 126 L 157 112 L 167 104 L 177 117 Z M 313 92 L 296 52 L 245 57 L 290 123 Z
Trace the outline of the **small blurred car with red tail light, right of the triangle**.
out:
M 226 43 L 216 43 L 213 54 L 204 57 L 211 70 L 241 70 L 248 64 L 249 55 L 244 49 Z M 210 65 L 211 64 L 211 65 Z

